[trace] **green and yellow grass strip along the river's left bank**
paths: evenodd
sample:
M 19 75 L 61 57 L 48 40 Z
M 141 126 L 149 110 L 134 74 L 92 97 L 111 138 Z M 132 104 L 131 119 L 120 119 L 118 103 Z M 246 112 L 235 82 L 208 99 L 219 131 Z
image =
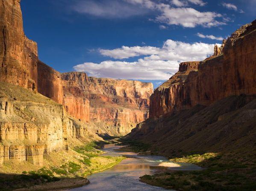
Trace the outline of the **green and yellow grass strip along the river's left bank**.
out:
M 103 171 L 121 162 L 125 157 L 101 156 L 98 150 L 102 143 L 95 142 L 75 147 L 69 160 L 62 160 L 59 165 L 44 166 L 32 171 L 21 171 L 20 174 L 0 174 L 0 190 L 9 191 L 18 188 L 29 188 L 47 182 L 85 177 L 88 174 Z M 55 157 L 53 157 L 54 159 Z

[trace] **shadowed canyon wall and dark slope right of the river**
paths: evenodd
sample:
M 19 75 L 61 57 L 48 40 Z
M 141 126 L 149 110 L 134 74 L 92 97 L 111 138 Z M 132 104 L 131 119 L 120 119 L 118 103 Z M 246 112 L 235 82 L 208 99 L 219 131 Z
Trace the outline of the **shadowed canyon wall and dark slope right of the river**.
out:
M 181 63 L 150 97 L 151 118 L 127 138 L 169 156 L 243 147 L 253 151 L 255 88 L 256 20 L 215 47 L 213 56 Z

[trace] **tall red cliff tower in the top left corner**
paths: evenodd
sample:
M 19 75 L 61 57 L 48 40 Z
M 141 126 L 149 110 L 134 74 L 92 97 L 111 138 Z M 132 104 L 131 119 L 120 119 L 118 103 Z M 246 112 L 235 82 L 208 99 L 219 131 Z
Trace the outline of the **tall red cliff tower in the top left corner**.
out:
M 37 45 L 24 35 L 20 0 L 1 0 L 0 31 L 0 81 L 36 90 Z

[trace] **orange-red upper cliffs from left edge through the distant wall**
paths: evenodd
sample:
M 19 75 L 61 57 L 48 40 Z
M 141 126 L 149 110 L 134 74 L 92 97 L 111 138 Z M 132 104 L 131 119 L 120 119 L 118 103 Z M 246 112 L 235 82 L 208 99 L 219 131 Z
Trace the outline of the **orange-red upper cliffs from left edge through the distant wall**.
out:
M 115 135 L 147 119 L 152 84 L 62 75 L 38 60 L 37 44 L 24 35 L 20 0 L 1 0 L 0 15 L 0 82 L 38 91 L 82 122 L 112 125 Z

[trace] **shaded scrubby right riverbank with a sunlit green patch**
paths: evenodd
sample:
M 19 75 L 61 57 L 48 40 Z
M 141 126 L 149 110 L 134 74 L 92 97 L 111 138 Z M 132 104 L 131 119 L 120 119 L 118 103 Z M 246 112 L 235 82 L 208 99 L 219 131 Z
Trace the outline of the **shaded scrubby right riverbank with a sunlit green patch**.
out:
M 182 158 L 175 162 L 190 162 L 206 169 L 202 171 L 172 171 L 140 177 L 142 182 L 183 191 L 254 191 L 256 190 L 255 154 L 239 156 L 205 153 Z

